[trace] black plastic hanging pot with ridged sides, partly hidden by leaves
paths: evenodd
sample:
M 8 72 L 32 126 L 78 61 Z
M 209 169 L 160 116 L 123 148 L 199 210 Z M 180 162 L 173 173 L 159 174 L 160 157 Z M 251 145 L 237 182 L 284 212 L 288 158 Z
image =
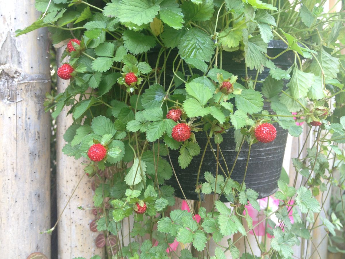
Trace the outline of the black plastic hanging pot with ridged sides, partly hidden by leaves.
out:
M 268 44 L 267 55 L 274 57 L 280 52 L 286 49 L 286 44 L 280 40 L 272 40 Z M 238 53 L 237 53 L 238 54 Z M 245 64 L 242 61 L 241 63 L 233 61 L 233 57 L 236 55 L 234 52 L 225 52 L 223 51 L 223 69 L 229 71 L 234 75 L 237 75 L 239 78 L 245 77 Z M 288 69 L 294 60 L 294 53 L 292 51 L 287 51 L 278 58 L 272 60 L 273 63 L 284 70 Z M 264 71 L 259 74 L 258 80 L 262 81 L 268 76 L 269 69 L 265 67 Z M 248 76 L 255 78 L 256 70 L 248 69 Z M 238 80 L 239 83 L 241 82 Z M 287 81 L 284 82 L 286 85 Z M 261 90 L 262 84 L 256 84 L 256 90 Z M 272 111 L 270 109 L 270 103 L 264 102 L 264 109 Z M 258 199 L 267 197 L 275 193 L 278 189 L 277 181 L 280 178 L 280 173 L 282 171 L 282 164 L 284 159 L 284 151 L 287 140 L 287 131 L 283 130 L 278 124 L 274 124 L 277 128 L 277 137 L 273 142 L 270 143 L 256 143 L 253 144 L 250 151 L 248 169 L 246 173 L 246 178 L 244 179 L 247 188 L 252 188 L 259 193 Z M 235 162 L 237 151 L 235 151 L 235 141 L 234 141 L 234 130 L 230 129 L 227 133 L 223 135 L 223 142 L 219 145 L 225 161 L 229 170 Z M 178 163 L 178 151 L 170 151 L 170 157 L 172 164 L 174 165 L 177 178 L 181 185 L 182 190 L 187 199 L 190 200 L 199 200 L 199 195 L 195 192 L 196 189 L 196 179 L 201 162 L 201 157 L 205 145 L 207 143 L 207 137 L 204 132 L 197 132 L 195 134 L 196 140 L 200 145 L 201 152 L 199 155 L 195 156 L 191 164 L 186 169 L 181 169 Z M 213 147 L 216 147 L 214 141 Z M 246 168 L 246 162 L 248 157 L 248 148 L 249 145 L 244 143 L 242 149 L 239 153 L 236 165 L 234 167 L 233 173 L 231 174 L 231 179 L 242 183 Z M 225 170 L 224 160 L 219 156 L 219 163 Z M 205 182 L 204 173 L 209 171 L 216 175 L 216 159 L 213 152 L 210 148 L 207 149 L 203 163 L 201 165 L 201 171 L 199 175 L 199 182 Z M 220 168 L 218 169 L 218 174 L 223 174 Z M 184 196 L 179 188 L 179 185 L 176 181 L 175 176 L 167 181 L 167 184 L 175 188 L 175 196 L 184 199 Z M 200 193 L 201 199 L 203 200 L 203 194 Z

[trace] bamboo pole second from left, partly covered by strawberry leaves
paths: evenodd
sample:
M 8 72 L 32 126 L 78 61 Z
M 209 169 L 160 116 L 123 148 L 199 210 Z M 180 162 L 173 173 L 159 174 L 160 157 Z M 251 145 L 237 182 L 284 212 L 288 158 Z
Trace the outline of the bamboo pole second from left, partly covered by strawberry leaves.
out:
M 57 64 L 61 58 L 63 49 L 58 49 Z M 65 60 L 67 62 L 67 60 Z M 69 84 L 69 80 L 58 78 L 58 92 L 65 91 Z M 85 159 L 75 160 L 74 157 L 66 156 L 62 153 L 62 148 L 66 142 L 63 134 L 67 128 L 72 125 L 71 114 L 67 116 L 69 107 L 65 107 L 57 118 L 56 131 L 56 148 L 57 148 L 57 206 L 58 215 L 61 214 L 63 208 L 75 190 L 79 180 L 85 174 L 83 171 L 86 162 Z M 92 214 L 93 208 L 93 191 L 91 189 L 91 180 L 84 176 L 77 190 L 69 201 L 61 220 L 58 223 L 58 258 L 67 259 L 74 257 L 90 258 L 92 255 L 104 257 L 105 250 L 96 247 L 96 237 L 100 232 L 91 232 L 89 228 L 90 222 L 95 219 Z M 79 210 L 81 206 L 83 210 Z

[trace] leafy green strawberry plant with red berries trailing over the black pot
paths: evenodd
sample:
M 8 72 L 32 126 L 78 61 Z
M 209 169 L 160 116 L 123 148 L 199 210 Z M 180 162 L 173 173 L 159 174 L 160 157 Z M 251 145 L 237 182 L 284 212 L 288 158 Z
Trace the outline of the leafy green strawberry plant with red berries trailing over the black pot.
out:
M 345 188 L 334 175 L 345 172 L 345 64 L 344 14 L 307 2 L 37 1 L 42 16 L 17 35 L 48 27 L 53 44 L 67 45 L 68 64 L 57 74 L 70 83 L 48 96 L 47 109 L 56 118 L 67 106 L 73 117 L 62 151 L 89 161 L 97 217 L 90 229 L 102 232 L 97 247 L 108 247 L 108 258 L 171 258 L 180 244 L 193 255 L 183 249 L 179 258 L 253 258 L 248 248 L 240 255 L 239 239 L 214 251 L 207 242 L 247 238 L 260 224 L 253 226 L 248 202 L 260 211 L 257 199 L 273 193 L 262 258 L 290 258 L 292 246 L 311 239 L 311 214 L 321 217 L 323 207 L 315 196 Z M 303 131 L 314 144 L 298 147 L 289 186 L 278 181 L 287 133 Z M 206 169 L 204 160 L 214 163 Z M 179 181 L 185 169 L 188 180 Z M 175 195 L 191 197 L 186 184 L 197 206 L 168 213 Z M 207 209 L 206 194 L 215 194 Z M 135 239 L 124 246 L 116 237 L 130 217 Z M 340 228 L 335 214 L 322 220 L 331 233 Z

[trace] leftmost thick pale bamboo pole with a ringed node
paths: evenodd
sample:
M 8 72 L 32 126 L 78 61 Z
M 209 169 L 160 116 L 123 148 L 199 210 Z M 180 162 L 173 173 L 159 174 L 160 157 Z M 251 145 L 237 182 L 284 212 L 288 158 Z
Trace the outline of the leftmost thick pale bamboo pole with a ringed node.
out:
M 50 89 L 47 30 L 15 37 L 39 13 L 34 0 L 0 9 L 0 257 L 50 258 Z

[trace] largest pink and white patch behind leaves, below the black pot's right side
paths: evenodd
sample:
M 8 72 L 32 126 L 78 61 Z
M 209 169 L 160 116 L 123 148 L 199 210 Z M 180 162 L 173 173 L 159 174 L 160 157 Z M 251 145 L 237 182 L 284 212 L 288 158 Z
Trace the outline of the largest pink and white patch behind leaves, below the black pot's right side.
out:
M 273 211 L 276 211 L 279 207 L 279 200 L 274 198 L 273 195 L 266 198 L 259 199 L 258 202 L 261 209 L 260 211 L 255 210 L 250 203 L 245 206 L 246 209 L 248 210 L 249 216 L 253 219 L 253 226 L 255 226 L 260 221 L 266 218 L 264 210 L 266 210 L 267 206 L 268 206 L 268 214 L 271 214 Z M 289 204 L 293 204 L 293 203 L 294 201 L 292 200 Z M 287 207 L 287 209 L 289 210 L 290 207 Z M 246 214 L 246 211 L 244 211 L 243 213 Z M 270 219 L 279 226 L 278 219 L 275 214 L 273 214 L 270 217 Z M 294 223 L 292 210 L 289 212 L 289 219 L 291 223 Z M 257 236 L 265 236 L 265 225 L 266 225 L 266 220 L 262 221 L 253 229 Z M 267 227 L 271 228 L 268 223 L 267 223 Z M 253 230 L 250 230 L 249 232 L 252 235 L 254 234 Z M 267 237 L 272 238 L 272 236 L 269 233 L 267 233 Z

